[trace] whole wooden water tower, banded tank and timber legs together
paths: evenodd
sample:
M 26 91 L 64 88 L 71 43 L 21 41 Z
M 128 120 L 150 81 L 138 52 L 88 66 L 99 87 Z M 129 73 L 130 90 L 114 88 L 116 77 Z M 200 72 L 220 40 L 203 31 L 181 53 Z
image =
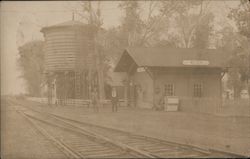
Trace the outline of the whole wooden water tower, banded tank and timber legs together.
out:
M 94 27 L 78 21 L 44 27 L 45 73 L 49 98 L 53 90 L 56 98 L 89 99 L 89 70 L 95 66 Z M 54 81 L 54 83 L 53 83 Z

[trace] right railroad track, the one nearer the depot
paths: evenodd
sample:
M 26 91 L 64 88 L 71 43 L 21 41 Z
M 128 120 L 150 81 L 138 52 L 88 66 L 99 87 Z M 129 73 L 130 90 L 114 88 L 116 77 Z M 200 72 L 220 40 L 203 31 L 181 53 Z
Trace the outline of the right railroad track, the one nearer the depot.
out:
M 87 132 L 93 136 L 98 136 L 114 145 L 119 145 L 127 151 L 135 152 L 146 158 L 207 158 L 207 157 L 239 157 L 238 155 L 219 152 L 208 151 L 196 148 L 189 145 L 182 145 L 156 138 L 151 138 L 142 135 L 136 135 L 129 132 L 107 128 L 103 126 L 93 125 L 86 122 L 80 122 L 68 119 L 55 114 L 41 112 L 29 108 L 34 116 L 46 117 L 49 120 L 56 120 Z M 101 135 L 100 135 L 101 134 Z M 100 154 L 102 157 L 102 154 Z M 242 156 L 240 156 L 242 157 Z M 136 157 L 137 158 L 137 157 Z

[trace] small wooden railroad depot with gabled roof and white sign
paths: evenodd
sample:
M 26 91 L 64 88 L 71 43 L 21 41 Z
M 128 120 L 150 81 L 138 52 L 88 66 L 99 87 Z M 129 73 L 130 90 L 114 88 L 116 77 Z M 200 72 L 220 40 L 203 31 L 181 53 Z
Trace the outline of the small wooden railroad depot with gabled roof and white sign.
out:
M 221 105 L 224 55 L 215 49 L 128 48 L 114 71 L 127 73 L 131 106 L 160 107 L 173 97 L 179 110 L 213 111 Z

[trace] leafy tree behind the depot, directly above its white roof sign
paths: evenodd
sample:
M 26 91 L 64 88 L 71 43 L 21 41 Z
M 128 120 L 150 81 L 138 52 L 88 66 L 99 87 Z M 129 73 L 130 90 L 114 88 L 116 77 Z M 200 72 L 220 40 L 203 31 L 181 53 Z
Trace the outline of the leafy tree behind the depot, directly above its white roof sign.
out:
M 212 31 L 213 14 L 209 11 L 209 2 L 204 0 L 180 1 L 176 13 L 178 37 L 181 47 L 206 48 L 209 46 L 209 35 Z

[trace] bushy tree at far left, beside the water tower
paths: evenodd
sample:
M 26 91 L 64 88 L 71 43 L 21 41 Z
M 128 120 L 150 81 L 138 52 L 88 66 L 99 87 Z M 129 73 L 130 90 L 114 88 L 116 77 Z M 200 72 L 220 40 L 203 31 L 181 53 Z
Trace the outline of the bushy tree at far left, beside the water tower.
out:
M 19 47 L 18 65 L 21 78 L 27 83 L 27 91 L 32 96 L 40 96 L 44 71 L 44 42 L 31 41 Z

